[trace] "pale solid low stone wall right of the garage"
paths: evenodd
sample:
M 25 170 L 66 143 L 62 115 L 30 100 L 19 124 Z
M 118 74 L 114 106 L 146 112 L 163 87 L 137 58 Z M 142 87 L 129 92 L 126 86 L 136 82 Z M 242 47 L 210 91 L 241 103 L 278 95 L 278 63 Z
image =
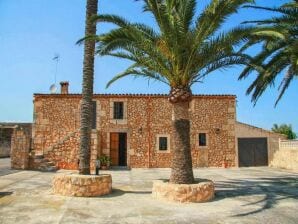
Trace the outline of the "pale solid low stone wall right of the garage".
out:
M 280 149 L 275 152 L 271 167 L 298 171 L 298 149 Z

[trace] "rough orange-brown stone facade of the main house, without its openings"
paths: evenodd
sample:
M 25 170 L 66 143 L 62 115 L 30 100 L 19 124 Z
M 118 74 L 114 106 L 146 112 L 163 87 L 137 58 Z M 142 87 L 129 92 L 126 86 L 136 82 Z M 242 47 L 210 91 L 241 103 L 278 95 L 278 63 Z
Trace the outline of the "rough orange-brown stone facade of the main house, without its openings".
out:
M 77 169 L 80 100 L 79 94 L 34 96 L 34 152 L 59 168 Z M 166 95 L 96 94 L 93 100 L 96 127 L 92 133 L 92 170 L 97 156 L 110 155 L 112 133 L 127 135 L 127 166 L 170 167 L 172 106 Z M 113 102 L 123 102 L 122 119 L 113 119 Z M 235 166 L 235 96 L 195 95 L 190 114 L 193 166 Z M 199 146 L 199 133 L 206 134 L 206 146 Z M 168 139 L 166 151 L 158 150 L 159 136 Z

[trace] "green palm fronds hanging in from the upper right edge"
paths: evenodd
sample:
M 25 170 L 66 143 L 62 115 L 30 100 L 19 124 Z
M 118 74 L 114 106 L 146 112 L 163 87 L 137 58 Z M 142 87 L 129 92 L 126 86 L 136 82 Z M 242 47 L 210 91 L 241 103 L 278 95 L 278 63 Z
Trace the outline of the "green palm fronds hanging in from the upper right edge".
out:
M 246 78 L 251 72 L 257 71 L 257 78 L 246 92 L 252 93 L 252 101 L 256 103 L 284 71 L 284 77 L 278 88 L 280 92 L 275 102 L 276 106 L 291 81 L 298 76 L 298 1 L 284 4 L 279 8 L 248 7 L 279 13 L 279 15 L 266 20 L 246 22 L 256 24 L 258 28 L 251 33 L 248 43 L 242 50 L 260 43 L 262 50 L 243 70 L 239 79 Z

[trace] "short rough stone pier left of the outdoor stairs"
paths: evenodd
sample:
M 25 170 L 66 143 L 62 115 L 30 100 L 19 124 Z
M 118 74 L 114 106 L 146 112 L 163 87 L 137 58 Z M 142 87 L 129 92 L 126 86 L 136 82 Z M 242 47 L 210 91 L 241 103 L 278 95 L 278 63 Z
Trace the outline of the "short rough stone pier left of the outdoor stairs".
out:
M 14 129 L 11 144 L 11 168 L 28 169 L 31 149 L 31 126 Z

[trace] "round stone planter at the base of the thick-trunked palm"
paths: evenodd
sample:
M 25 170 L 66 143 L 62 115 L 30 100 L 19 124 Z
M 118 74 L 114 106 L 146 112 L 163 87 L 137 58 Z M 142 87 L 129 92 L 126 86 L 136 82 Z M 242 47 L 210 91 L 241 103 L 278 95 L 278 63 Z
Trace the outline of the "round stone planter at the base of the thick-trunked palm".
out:
M 152 196 L 174 202 L 207 202 L 214 197 L 214 183 L 201 180 L 195 184 L 172 184 L 166 180 L 153 182 Z

